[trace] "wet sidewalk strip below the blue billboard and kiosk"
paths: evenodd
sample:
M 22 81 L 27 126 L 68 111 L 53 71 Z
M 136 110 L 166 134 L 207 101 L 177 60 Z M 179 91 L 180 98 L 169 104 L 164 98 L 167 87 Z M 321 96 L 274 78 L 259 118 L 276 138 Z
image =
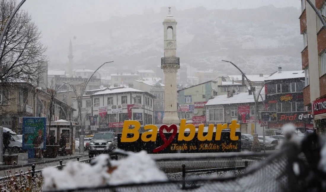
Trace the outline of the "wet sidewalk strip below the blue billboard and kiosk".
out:
M 56 162 L 59 164 L 60 160 L 66 161 L 75 159 L 77 160 L 77 157 L 84 158 L 87 157 L 88 159 L 88 152 L 86 151 L 84 155 L 79 155 L 79 152 L 76 151 L 76 154 L 74 155 L 67 155 L 67 156 L 57 156 L 56 158 L 42 158 L 41 160 L 28 160 L 28 154 L 27 153 L 17 153 L 18 154 L 18 163 L 17 165 L 2 165 L 0 166 L 0 171 L 2 170 L 9 170 L 9 169 L 16 169 L 16 168 L 22 168 L 22 167 L 30 167 L 33 164 L 34 165 L 40 165 L 40 164 L 46 164 L 46 163 L 52 163 Z M 82 160 L 82 159 L 80 159 Z

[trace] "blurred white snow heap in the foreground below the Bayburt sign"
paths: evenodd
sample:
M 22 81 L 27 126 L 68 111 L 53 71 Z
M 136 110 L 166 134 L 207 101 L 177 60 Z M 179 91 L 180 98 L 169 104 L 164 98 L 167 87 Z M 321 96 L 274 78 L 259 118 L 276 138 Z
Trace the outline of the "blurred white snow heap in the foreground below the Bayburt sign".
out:
M 73 189 L 77 187 L 96 187 L 122 183 L 139 183 L 166 181 L 164 172 L 145 152 L 128 152 L 128 157 L 121 160 L 110 160 L 109 155 L 99 155 L 92 165 L 81 162 L 68 162 L 63 170 L 46 168 L 43 190 Z

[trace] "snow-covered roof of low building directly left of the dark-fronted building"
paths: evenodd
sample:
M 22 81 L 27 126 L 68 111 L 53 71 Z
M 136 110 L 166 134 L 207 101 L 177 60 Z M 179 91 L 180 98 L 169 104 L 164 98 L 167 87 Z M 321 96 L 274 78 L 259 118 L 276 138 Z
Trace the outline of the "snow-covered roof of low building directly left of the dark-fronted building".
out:
M 265 100 L 265 89 L 261 90 L 261 96 Z M 259 96 L 258 101 L 262 101 Z M 228 98 L 228 95 L 219 95 L 215 96 L 213 99 L 209 99 L 206 103 L 208 105 L 225 105 L 225 104 L 236 104 L 236 103 L 254 103 L 254 95 L 249 95 L 248 92 L 235 94 L 232 97 Z

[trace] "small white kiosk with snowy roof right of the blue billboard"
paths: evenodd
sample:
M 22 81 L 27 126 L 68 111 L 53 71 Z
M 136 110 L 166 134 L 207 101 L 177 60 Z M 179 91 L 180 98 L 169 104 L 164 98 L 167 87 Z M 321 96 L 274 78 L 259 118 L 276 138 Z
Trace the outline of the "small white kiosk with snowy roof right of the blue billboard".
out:
M 78 123 L 71 122 L 66 120 L 58 120 L 51 122 L 51 126 L 49 127 L 50 122 L 46 122 L 48 136 L 53 138 L 53 143 L 47 145 L 47 148 L 51 148 L 51 146 L 59 146 L 60 135 L 63 134 L 66 138 L 66 151 L 68 155 L 75 154 L 75 139 L 76 139 L 76 127 Z M 54 145 L 53 145 L 54 144 Z M 59 149 L 58 147 L 55 147 Z

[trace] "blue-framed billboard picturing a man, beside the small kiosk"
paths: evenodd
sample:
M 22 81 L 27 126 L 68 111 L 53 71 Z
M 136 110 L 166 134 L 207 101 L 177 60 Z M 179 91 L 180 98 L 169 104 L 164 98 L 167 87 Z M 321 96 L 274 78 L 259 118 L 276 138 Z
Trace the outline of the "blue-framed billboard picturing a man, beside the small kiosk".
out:
M 45 149 L 46 147 L 46 118 L 23 117 L 22 122 L 23 149 Z

